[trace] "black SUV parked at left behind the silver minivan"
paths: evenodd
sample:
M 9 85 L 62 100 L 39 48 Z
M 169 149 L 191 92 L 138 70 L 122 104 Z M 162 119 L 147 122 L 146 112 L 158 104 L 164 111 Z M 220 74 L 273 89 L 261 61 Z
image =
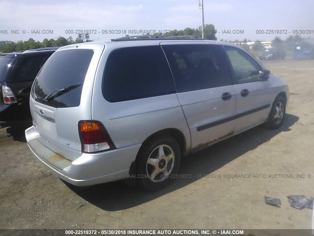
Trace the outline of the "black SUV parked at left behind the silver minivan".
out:
M 59 47 L 0 55 L 0 126 L 30 126 L 29 93 L 46 60 Z

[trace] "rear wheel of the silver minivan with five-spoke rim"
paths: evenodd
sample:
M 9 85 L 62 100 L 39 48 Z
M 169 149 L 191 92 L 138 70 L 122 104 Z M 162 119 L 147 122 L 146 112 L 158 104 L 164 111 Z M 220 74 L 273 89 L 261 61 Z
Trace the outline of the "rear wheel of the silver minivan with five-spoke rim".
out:
M 180 147 L 169 135 L 156 137 L 143 147 L 136 159 L 138 185 L 149 191 L 166 187 L 181 160 Z

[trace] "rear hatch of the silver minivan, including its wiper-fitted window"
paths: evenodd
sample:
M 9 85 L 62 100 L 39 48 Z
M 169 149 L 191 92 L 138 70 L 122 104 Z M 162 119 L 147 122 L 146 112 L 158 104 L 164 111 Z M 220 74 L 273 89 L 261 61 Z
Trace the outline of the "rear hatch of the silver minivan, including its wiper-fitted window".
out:
M 60 48 L 38 73 L 30 111 L 38 141 L 74 161 L 81 155 L 78 121 L 91 119 L 92 87 L 104 44 Z

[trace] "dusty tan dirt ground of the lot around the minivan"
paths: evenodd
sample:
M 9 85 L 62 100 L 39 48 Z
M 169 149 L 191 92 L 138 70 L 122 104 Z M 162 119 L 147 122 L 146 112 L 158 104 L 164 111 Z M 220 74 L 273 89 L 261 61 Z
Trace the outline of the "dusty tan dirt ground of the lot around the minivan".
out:
M 0 229 L 310 229 L 312 210 L 290 207 L 287 196 L 314 197 L 314 60 L 262 63 L 288 82 L 284 125 L 184 158 L 182 178 L 159 192 L 69 187 L 33 157 L 23 131 L 0 129 Z

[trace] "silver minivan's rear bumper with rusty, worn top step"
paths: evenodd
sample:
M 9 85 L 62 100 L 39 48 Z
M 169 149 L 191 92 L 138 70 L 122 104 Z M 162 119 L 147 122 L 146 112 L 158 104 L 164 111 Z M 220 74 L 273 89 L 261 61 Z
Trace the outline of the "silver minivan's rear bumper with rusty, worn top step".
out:
M 99 153 L 82 153 L 75 161 L 55 153 L 39 141 L 34 126 L 25 131 L 29 149 L 57 177 L 76 186 L 89 186 L 124 179 L 129 176 L 139 145 Z

